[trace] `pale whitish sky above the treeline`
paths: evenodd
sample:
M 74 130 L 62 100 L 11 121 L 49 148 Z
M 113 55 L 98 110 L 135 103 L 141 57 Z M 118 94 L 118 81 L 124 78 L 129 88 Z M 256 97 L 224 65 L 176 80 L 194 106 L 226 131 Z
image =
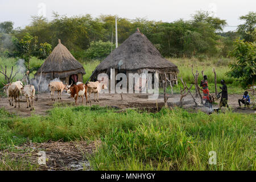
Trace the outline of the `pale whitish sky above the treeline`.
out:
M 60 15 L 91 14 L 97 17 L 118 15 L 121 18 L 147 18 L 173 22 L 180 18 L 188 20 L 197 10 L 213 11 L 225 19 L 229 26 L 237 26 L 238 19 L 249 11 L 256 11 L 255 0 L 0 0 L 0 22 L 12 21 L 14 27 L 24 27 L 31 22 L 31 15 L 46 15 L 51 20 L 52 12 Z M 225 27 L 224 31 L 236 30 L 236 27 Z

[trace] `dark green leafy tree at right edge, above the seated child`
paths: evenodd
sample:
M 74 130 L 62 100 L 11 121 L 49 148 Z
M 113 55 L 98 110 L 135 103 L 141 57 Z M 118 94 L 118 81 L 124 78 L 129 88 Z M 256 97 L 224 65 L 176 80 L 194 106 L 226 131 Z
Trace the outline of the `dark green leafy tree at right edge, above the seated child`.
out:
M 243 88 L 254 85 L 256 77 L 256 45 L 251 42 L 237 40 L 230 56 L 236 57 L 237 62 L 230 64 L 230 71 L 226 75 L 238 78 Z

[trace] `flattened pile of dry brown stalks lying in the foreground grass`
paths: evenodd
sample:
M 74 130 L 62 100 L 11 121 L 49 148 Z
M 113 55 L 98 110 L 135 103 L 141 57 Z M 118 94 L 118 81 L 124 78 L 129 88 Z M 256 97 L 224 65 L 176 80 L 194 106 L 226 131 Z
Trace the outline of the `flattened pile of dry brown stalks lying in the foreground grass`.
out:
M 100 140 L 93 142 L 47 142 L 25 143 L 15 146 L 15 150 L 0 151 L 0 158 L 35 164 L 38 170 L 90 170 L 88 156 L 97 151 Z M 42 151 L 46 154 L 46 164 L 39 164 Z

